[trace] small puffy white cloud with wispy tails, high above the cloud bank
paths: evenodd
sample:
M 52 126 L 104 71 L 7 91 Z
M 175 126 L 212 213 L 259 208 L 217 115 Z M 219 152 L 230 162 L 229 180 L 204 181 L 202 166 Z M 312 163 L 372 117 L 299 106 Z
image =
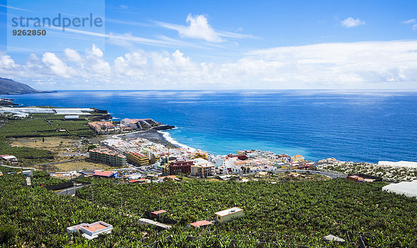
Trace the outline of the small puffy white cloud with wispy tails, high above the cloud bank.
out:
M 245 35 L 242 33 L 232 33 L 226 31 L 215 31 L 204 15 L 187 16 L 186 22 L 188 26 L 170 24 L 165 22 L 156 22 L 159 26 L 178 31 L 182 38 L 193 38 L 206 40 L 207 42 L 224 42 L 224 38 L 256 38 L 254 35 Z

